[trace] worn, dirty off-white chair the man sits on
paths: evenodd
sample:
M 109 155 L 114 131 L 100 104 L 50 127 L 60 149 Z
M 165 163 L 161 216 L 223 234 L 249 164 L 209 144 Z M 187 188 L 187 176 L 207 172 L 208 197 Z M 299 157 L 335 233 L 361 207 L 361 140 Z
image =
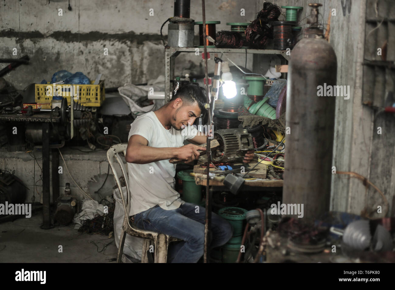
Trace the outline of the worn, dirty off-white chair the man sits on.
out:
M 111 170 L 113 171 L 115 181 L 117 182 L 119 193 L 122 198 L 122 204 L 123 204 L 124 211 L 125 211 L 124 221 L 122 224 L 122 232 L 121 232 L 121 236 L 120 236 L 120 243 L 119 243 L 119 248 L 118 248 L 117 263 L 121 262 L 121 257 L 122 257 L 126 234 L 130 234 L 131 236 L 144 239 L 143 253 L 141 255 L 141 262 L 142 263 L 148 262 L 147 251 L 149 251 L 151 241 L 154 242 L 154 256 L 155 256 L 154 262 L 155 263 L 166 263 L 167 249 L 169 247 L 170 241 L 179 241 L 179 239 L 165 235 L 165 234 L 151 232 L 148 230 L 140 230 L 130 223 L 130 219 L 129 219 L 129 212 L 130 212 L 129 193 L 130 193 L 130 191 L 129 191 L 128 170 L 127 170 L 127 167 L 125 170 L 125 165 L 119 156 L 120 152 L 123 152 L 124 155 L 126 155 L 126 148 L 127 147 L 128 147 L 128 143 L 121 143 L 121 144 L 116 144 L 116 145 L 111 146 L 111 148 L 107 151 L 107 159 L 110 164 Z M 124 200 L 124 195 L 122 194 L 122 186 L 119 181 L 117 172 L 115 171 L 115 168 L 114 168 L 114 157 L 115 157 L 115 159 L 117 159 L 119 166 L 122 170 L 122 175 L 124 176 L 125 181 L 126 181 L 126 189 L 128 191 L 128 194 L 126 195 L 126 200 Z

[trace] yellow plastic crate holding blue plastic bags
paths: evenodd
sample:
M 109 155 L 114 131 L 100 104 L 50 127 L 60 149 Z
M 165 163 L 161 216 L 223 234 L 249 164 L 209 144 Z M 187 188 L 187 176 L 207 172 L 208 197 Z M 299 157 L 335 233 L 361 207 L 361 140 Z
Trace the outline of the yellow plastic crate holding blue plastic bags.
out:
M 47 91 L 49 88 L 47 86 L 51 86 L 53 88 L 53 84 L 36 84 L 36 103 L 51 103 L 52 96 L 56 94 L 56 86 L 62 86 L 62 94 L 67 98 L 67 103 L 70 105 L 70 86 L 78 86 L 79 90 L 79 99 L 75 99 L 74 101 L 80 103 L 81 105 L 87 107 L 100 107 L 105 100 L 105 92 L 104 92 L 104 80 L 100 80 L 99 84 L 93 84 L 94 81 L 90 82 L 91 84 L 55 84 L 55 92 L 53 94 L 47 96 Z M 53 90 L 53 89 L 52 89 Z M 62 95 L 63 96 L 63 95 Z M 48 107 L 48 108 L 47 108 Z M 46 105 L 42 107 L 42 109 L 51 109 L 51 105 Z

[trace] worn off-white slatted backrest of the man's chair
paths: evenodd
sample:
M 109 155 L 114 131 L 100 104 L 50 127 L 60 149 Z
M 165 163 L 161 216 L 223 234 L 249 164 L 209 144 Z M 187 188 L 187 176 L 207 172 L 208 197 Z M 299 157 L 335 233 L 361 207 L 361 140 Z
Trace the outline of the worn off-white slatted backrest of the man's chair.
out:
M 115 181 L 117 182 L 118 189 L 119 189 L 119 194 L 122 198 L 122 204 L 124 207 L 124 211 L 126 215 L 129 215 L 130 212 L 130 198 L 129 198 L 129 178 L 128 178 L 128 167 L 125 168 L 125 165 L 119 156 L 120 152 L 123 152 L 124 155 L 126 156 L 126 148 L 128 147 L 128 143 L 120 143 L 116 144 L 110 147 L 109 150 L 107 150 L 107 159 L 108 163 L 110 164 L 111 170 L 113 171 Z M 117 175 L 117 171 L 115 170 L 114 167 L 114 157 L 117 159 L 117 162 L 119 163 L 119 166 L 122 170 L 122 174 L 125 178 L 126 182 L 126 189 L 127 189 L 127 194 L 126 194 L 126 200 L 124 200 L 124 195 L 122 191 L 122 185 L 119 180 L 119 176 Z

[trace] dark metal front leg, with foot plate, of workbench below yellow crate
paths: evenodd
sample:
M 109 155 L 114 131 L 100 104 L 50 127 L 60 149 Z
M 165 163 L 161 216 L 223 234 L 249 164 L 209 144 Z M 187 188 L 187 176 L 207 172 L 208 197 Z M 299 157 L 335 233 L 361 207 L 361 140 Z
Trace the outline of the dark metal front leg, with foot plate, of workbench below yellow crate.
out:
M 43 225 L 41 228 L 51 228 L 49 218 L 49 123 L 43 123 Z

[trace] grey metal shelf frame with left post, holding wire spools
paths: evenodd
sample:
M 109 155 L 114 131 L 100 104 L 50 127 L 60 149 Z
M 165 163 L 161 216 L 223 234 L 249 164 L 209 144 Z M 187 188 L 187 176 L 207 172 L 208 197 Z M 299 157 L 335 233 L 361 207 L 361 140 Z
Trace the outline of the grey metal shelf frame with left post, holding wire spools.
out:
M 196 52 L 197 49 L 199 50 L 199 54 L 204 52 L 203 47 L 165 47 L 165 103 L 170 101 L 170 80 L 174 78 L 175 58 L 181 52 Z M 273 54 L 281 55 L 287 61 L 290 57 L 286 54 L 286 50 L 278 51 L 275 49 L 220 49 L 213 47 L 207 48 L 207 52 Z

